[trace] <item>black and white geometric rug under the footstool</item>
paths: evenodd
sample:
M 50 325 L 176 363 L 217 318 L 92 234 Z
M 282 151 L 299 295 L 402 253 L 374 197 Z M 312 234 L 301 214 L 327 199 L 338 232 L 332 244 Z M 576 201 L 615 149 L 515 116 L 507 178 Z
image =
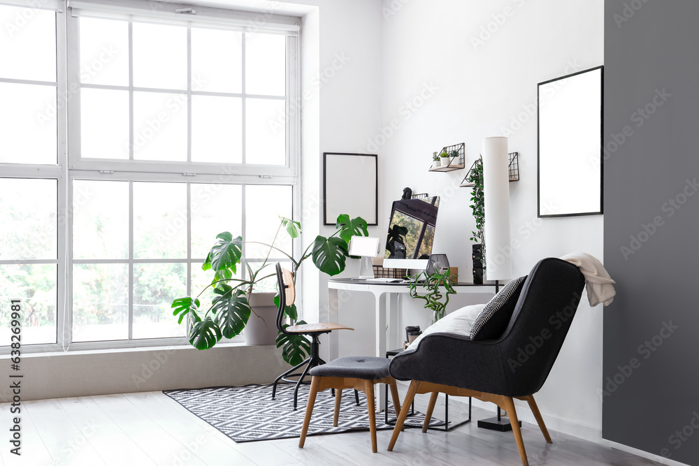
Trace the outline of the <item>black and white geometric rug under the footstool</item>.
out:
M 278 384 L 272 400 L 272 385 L 245 385 L 238 387 L 197 388 L 194 390 L 165 390 L 163 393 L 180 403 L 187 411 L 214 426 L 236 442 L 287 439 L 301 435 L 308 385 L 298 389 L 298 410 L 294 411 L 294 385 Z M 369 416 L 366 397 L 359 392 L 359 406 L 352 390 L 343 391 L 340 421 L 333 427 L 335 398 L 330 390 L 318 393 L 310 419 L 308 435 L 338 434 L 348 430 L 368 430 Z M 394 418 L 393 404 L 389 402 L 389 417 Z M 405 420 L 408 425 L 421 426 L 424 414 L 415 412 Z M 376 414 L 379 430 L 393 429 L 384 423 L 384 414 Z M 444 425 L 433 418 L 431 425 Z

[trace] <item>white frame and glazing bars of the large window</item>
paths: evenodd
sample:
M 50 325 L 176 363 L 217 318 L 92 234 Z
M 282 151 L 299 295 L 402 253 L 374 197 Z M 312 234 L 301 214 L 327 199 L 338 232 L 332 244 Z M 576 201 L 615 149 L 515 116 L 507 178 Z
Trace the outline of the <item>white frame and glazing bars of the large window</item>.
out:
M 100 17 L 115 17 L 121 19 L 153 20 L 154 22 L 167 22 L 171 24 L 178 20 L 174 10 L 177 8 L 192 8 L 191 6 L 178 5 L 174 3 L 161 3 L 153 1 L 89 1 L 72 2 L 72 6 L 87 8 L 94 6 Z M 73 260 L 73 180 L 121 180 L 129 181 L 130 187 L 133 182 L 186 182 L 187 183 L 187 259 L 147 261 L 136 260 L 136 263 L 158 263 L 158 262 L 178 262 L 187 263 L 187 293 L 191 293 L 191 270 L 193 264 L 198 264 L 200 259 L 192 258 L 191 251 L 191 199 L 189 196 L 189 184 L 193 183 L 221 183 L 221 184 L 271 184 L 290 185 L 293 190 L 292 212 L 294 219 L 301 218 L 301 160 L 300 152 L 300 115 L 298 115 L 299 99 L 299 64 L 298 64 L 298 35 L 289 31 L 298 31 L 298 24 L 301 20 L 296 17 L 274 15 L 271 13 L 254 14 L 244 12 L 233 12 L 219 8 L 196 7 L 195 18 L 182 20 L 189 26 L 209 24 L 210 27 L 226 27 L 226 29 L 236 29 L 240 31 L 260 31 L 277 32 L 283 31 L 287 35 L 287 89 L 285 100 L 287 102 L 287 161 L 284 166 L 264 166 L 253 164 L 226 164 L 233 169 L 223 170 L 223 164 L 217 163 L 192 163 L 187 162 L 151 162 L 140 160 L 108 160 L 108 159 L 81 159 L 80 147 L 80 45 L 79 38 L 75 31 L 78 31 L 78 18 L 72 14 L 71 1 L 66 2 L 69 8 L 56 10 L 56 34 L 57 34 L 57 82 L 41 83 L 43 85 L 53 85 L 57 87 L 59 102 L 64 99 L 64 104 L 58 105 L 58 140 L 57 140 L 57 165 L 28 165 L 20 163 L 0 163 L 0 173 L 3 177 L 24 177 L 55 179 L 58 181 L 58 224 L 57 239 L 58 252 L 55 260 L 17 260 L 0 261 L 0 263 L 57 263 L 57 342 L 51 344 L 31 344 L 22 347 L 25 353 L 38 353 L 50 351 L 73 351 L 79 350 L 101 350 L 101 349 L 129 349 L 138 347 L 168 346 L 174 344 L 189 345 L 187 337 L 174 338 L 153 338 L 143 340 L 108 340 L 99 342 L 71 342 L 72 339 L 72 286 L 73 286 L 73 263 L 129 263 L 129 338 L 132 335 L 133 325 L 133 267 L 134 259 L 131 254 L 132 245 L 129 249 L 129 259 L 127 260 Z M 154 17 L 149 16 L 155 13 Z M 90 15 L 91 13 L 81 12 Z M 124 16 L 126 15 L 126 16 Z M 180 16 L 181 17 L 181 16 Z M 188 70 L 191 67 L 191 54 L 189 52 L 189 38 L 191 37 L 188 28 Z M 131 27 L 129 27 L 129 43 L 131 43 Z M 243 43 L 243 48 L 245 43 Z M 244 49 L 243 49 L 244 50 Z M 243 67 L 245 61 L 243 60 Z M 130 73 L 131 74 L 131 73 Z M 131 78 L 130 78 L 131 80 Z M 1 79 L 0 82 L 24 82 L 31 81 Z M 243 68 L 243 86 L 245 86 L 245 68 Z M 77 87 L 76 87 L 77 86 Z M 191 96 L 191 80 L 188 82 L 186 92 L 182 90 L 173 91 Z M 98 87 L 87 85 L 86 87 Z M 99 86 L 110 88 L 110 86 Z M 115 88 L 115 87 L 112 87 Z M 117 87 L 124 89 L 123 87 Z M 129 86 L 132 90 L 152 90 L 138 89 Z M 158 89 L 161 90 L 161 89 Z M 243 87 L 243 94 L 245 87 Z M 243 94 L 219 94 L 204 93 L 205 95 L 237 95 Z M 247 96 L 258 98 L 266 96 Z M 279 99 L 278 96 L 267 96 Z M 130 105 L 132 111 L 132 105 Z M 188 105 L 191 109 L 191 106 Z M 244 110 L 244 108 L 243 108 Z M 191 111 L 191 110 L 188 110 Z M 243 118 L 244 122 L 244 118 Z M 245 123 L 243 123 L 245 124 Z M 188 126 L 190 126 L 188 124 Z M 131 128 L 132 132 L 133 129 Z M 188 128 L 188 131 L 191 129 Z M 188 136 L 191 136 L 189 134 Z M 243 131 L 245 138 L 245 131 Z M 191 138 L 189 138 L 191 140 Z M 191 144 L 190 144 L 191 146 Z M 69 150 L 70 148 L 70 150 Z M 188 148 L 188 160 L 191 152 Z M 131 155 L 132 156 L 132 155 Z M 245 156 L 245 155 L 243 155 Z M 244 161 L 245 159 L 243 159 Z M 131 189 L 129 190 L 131 191 Z M 242 198 L 243 232 L 245 231 L 245 187 L 243 187 Z M 133 205 L 129 205 L 129 238 L 133 238 Z M 301 242 L 299 238 L 294 240 L 294 251 L 300 250 Z M 245 250 L 243 250 L 245 252 Z M 254 260 L 252 260 L 254 262 Z M 196 291 L 196 290 L 195 290 Z M 232 341 L 238 340 L 236 337 Z M 8 347 L 1 347 L 0 354 L 7 354 Z

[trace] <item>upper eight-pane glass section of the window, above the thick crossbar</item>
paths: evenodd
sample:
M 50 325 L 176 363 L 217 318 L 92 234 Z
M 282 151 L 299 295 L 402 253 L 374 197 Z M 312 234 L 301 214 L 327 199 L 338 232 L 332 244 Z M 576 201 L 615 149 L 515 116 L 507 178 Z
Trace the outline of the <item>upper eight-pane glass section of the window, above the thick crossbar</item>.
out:
M 80 18 L 80 22 L 85 20 L 92 19 Z M 123 22 L 118 20 L 100 21 Z M 122 147 L 124 152 L 112 150 L 111 153 L 98 154 L 96 150 L 89 150 L 91 141 L 94 141 L 94 145 L 96 145 L 103 138 L 92 136 L 93 133 L 99 133 L 99 131 L 95 129 L 90 131 L 89 118 L 82 117 L 83 123 L 81 125 L 84 134 L 80 160 L 127 159 L 136 163 L 157 160 L 182 161 L 186 163 L 218 163 L 222 167 L 231 164 L 289 166 L 286 124 L 284 123 L 284 113 L 287 108 L 285 36 L 242 34 L 224 29 L 167 26 L 133 21 L 129 21 L 127 24 L 128 28 L 125 34 L 128 36 L 127 43 L 129 44 L 128 83 L 120 85 L 118 82 L 105 82 L 106 79 L 103 78 L 93 80 L 81 78 L 80 82 L 81 89 L 101 89 L 102 91 L 124 93 L 124 96 L 128 95 L 129 127 L 128 129 L 119 129 L 116 133 L 114 126 L 119 126 L 117 120 L 125 123 L 127 118 L 113 115 L 113 112 L 107 112 L 106 108 L 113 108 L 113 105 L 106 105 L 99 99 L 91 100 L 92 105 L 97 105 L 96 108 L 102 108 L 104 113 L 102 118 L 93 115 L 94 120 L 110 118 L 108 121 L 113 122 L 113 124 L 106 125 L 104 131 L 110 131 L 112 139 L 123 139 L 122 143 L 116 143 L 116 147 Z M 167 41 L 163 42 L 161 37 L 154 34 L 156 31 L 151 31 L 149 36 L 148 29 L 158 29 L 164 36 L 170 37 L 172 41 L 178 43 L 179 48 L 184 49 L 184 53 L 178 49 L 178 46 L 171 46 Z M 219 52 L 218 56 L 210 55 L 207 57 L 204 52 L 206 48 L 199 43 L 199 40 L 195 43 L 196 54 L 194 54 L 193 38 L 206 36 L 206 34 L 211 37 L 215 37 L 212 34 L 229 34 L 230 38 L 238 38 L 231 39 L 231 43 L 234 45 L 232 50 L 239 50 L 239 54 L 238 52 L 234 53 L 238 64 L 232 63 L 232 69 L 225 66 L 222 68 L 221 62 L 226 61 L 226 56 L 221 56 Z M 149 40 L 155 41 L 155 45 L 149 43 Z M 163 78 L 157 78 L 157 76 L 149 78 L 149 75 L 144 73 L 143 69 L 152 68 L 150 61 L 158 61 L 161 58 L 157 57 L 154 52 L 156 49 L 153 48 L 158 47 L 158 41 L 161 42 L 162 50 L 160 51 L 165 56 L 171 55 L 171 59 L 175 63 L 180 63 L 173 69 L 175 75 L 178 74 L 178 71 L 182 75 L 182 70 L 184 70 L 182 81 L 166 77 L 167 73 L 163 72 L 159 72 Z M 223 47 L 225 44 L 216 45 Z M 142 50 L 144 47 L 145 50 Z M 271 61 L 271 57 L 277 61 L 276 64 L 267 63 Z M 195 66 L 195 59 L 198 70 L 196 73 L 192 70 L 192 67 Z M 216 72 L 228 73 L 231 78 L 234 78 L 230 85 L 225 81 L 217 80 L 217 75 L 214 73 L 210 73 L 210 77 L 206 76 L 206 78 L 199 75 L 199 70 L 207 68 L 207 65 L 202 64 L 201 61 L 207 59 L 210 61 L 209 68 L 212 63 L 215 63 Z M 239 69 L 236 70 L 236 67 Z M 81 65 L 80 68 L 82 70 L 84 66 Z M 158 74 L 157 67 L 153 68 L 153 73 Z M 238 86 L 236 75 L 240 80 L 239 92 L 236 89 Z M 208 83 L 208 81 L 212 82 Z M 247 91 L 250 82 L 253 83 L 253 93 Z M 175 85 L 168 85 L 168 83 Z M 81 94 L 84 94 L 84 91 Z M 166 94 L 166 96 L 160 103 L 156 103 L 158 99 L 152 100 L 156 94 Z M 171 95 L 168 96 L 168 94 Z M 152 103 L 147 107 L 139 103 L 145 96 L 152 96 L 148 97 Z M 236 105 L 239 105 L 239 108 L 233 105 L 233 107 L 223 110 L 224 108 L 220 105 L 225 101 L 218 101 L 216 105 L 219 105 L 219 109 L 223 111 L 198 110 L 197 106 L 201 106 L 206 101 L 197 101 L 195 96 L 199 96 L 199 99 L 233 99 L 229 102 L 237 100 Z M 88 99 L 88 96 L 82 95 L 82 99 Z M 254 99 L 250 101 L 250 105 L 248 105 L 249 99 Z M 211 101 L 211 103 L 214 102 Z M 204 115 L 219 115 L 227 120 L 217 118 L 220 120 L 217 121 L 220 128 L 202 132 L 203 129 L 212 126 L 211 122 L 205 122 L 206 116 Z M 275 126 L 275 120 L 282 122 L 282 124 Z M 197 124 L 198 121 L 201 123 Z M 272 126 L 275 126 L 273 130 L 271 130 Z M 221 128 L 227 129 L 227 131 L 222 131 Z M 212 134 L 227 136 L 228 139 L 218 140 Z M 248 141 L 254 141 L 254 143 L 249 144 Z M 212 154 L 215 151 L 212 151 L 211 147 L 227 147 L 227 150 L 221 152 L 219 149 L 217 151 L 219 153 Z M 240 149 L 239 153 L 238 148 Z

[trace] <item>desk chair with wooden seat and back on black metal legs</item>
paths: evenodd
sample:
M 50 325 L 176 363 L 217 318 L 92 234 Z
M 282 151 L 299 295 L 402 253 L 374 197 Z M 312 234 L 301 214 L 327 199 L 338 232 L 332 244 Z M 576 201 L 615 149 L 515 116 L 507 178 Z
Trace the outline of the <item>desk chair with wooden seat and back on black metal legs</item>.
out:
M 279 263 L 277 263 L 276 268 L 277 284 L 279 286 L 280 295 L 279 307 L 277 308 L 277 329 L 285 335 L 301 334 L 311 337 L 310 356 L 306 358 L 303 363 L 298 364 L 295 367 L 291 367 L 291 369 L 287 370 L 287 372 L 284 372 L 277 377 L 272 386 L 272 399 L 274 400 L 275 395 L 277 394 L 277 384 L 280 380 L 296 384 L 294 387 L 294 411 L 296 411 L 298 388 L 301 386 L 301 384 L 308 384 L 308 382 L 303 381 L 306 374 L 308 374 L 308 371 L 313 367 L 325 364 L 325 361 L 323 361 L 319 356 L 320 341 L 318 340 L 318 337 L 324 333 L 331 333 L 333 330 L 354 330 L 354 328 L 343 326 L 340 323 L 329 322 L 303 323 L 301 325 L 284 328 L 282 326 L 284 324 L 284 308 L 294 304 L 294 300 L 296 300 L 296 289 L 294 287 L 294 274 L 289 272 L 289 270 L 282 268 Z M 303 372 L 297 374 L 292 373 L 298 369 L 301 369 L 303 366 L 305 366 Z M 298 380 L 292 380 L 289 379 L 289 377 L 298 377 Z M 359 393 L 357 393 L 356 390 L 354 391 L 354 400 L 356 401 L 356 404 L 359 405 Z

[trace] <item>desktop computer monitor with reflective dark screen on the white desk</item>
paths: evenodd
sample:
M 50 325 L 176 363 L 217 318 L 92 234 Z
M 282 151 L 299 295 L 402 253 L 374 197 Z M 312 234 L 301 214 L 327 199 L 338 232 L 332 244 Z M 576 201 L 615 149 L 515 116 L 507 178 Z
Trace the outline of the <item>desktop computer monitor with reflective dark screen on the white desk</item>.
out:
M 393 203 L 384 267 L 427 268 L 435 238 L 438 208 L 438 196 L 401 199 Z

